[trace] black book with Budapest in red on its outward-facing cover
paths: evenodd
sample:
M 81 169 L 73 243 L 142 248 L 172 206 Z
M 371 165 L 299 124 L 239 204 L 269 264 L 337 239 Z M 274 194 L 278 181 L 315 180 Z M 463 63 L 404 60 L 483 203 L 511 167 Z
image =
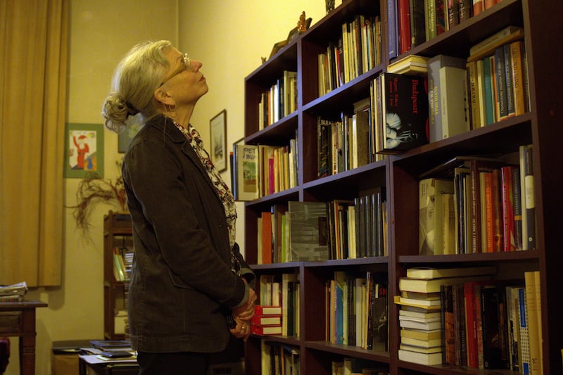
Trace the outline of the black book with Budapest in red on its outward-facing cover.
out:
M 426 77 L 381 75 L 381 153 L 400 153 L 428 143 L 428 84 Z

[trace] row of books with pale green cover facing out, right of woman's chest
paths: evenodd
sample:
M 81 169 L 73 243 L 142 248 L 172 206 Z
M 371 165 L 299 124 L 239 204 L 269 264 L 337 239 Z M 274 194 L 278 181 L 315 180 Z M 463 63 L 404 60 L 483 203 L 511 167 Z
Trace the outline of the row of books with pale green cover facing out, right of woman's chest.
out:
M 296 139 L 284 146 L 234 145 L 232 186 L 237 201 L 251 201 L 298 184 Z

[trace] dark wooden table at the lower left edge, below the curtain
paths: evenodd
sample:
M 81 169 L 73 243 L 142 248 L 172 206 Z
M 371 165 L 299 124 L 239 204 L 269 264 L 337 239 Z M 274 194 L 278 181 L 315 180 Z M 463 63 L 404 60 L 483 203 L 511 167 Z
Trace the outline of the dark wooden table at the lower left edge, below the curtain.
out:
M 20 337 L 20 375 L 35 374 L 35 309 L 42 301 L 0 302 L 0 336 Z

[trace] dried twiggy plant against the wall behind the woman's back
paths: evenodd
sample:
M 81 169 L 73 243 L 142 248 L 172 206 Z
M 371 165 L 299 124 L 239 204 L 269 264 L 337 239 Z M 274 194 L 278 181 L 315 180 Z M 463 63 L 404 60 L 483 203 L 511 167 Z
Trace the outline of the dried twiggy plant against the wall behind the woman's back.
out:
M 121 163 L 119 161 L 116 163 L 120 169 Z M 90 214 L 96 203 L 111 203 L 125 211 L 125 186 L 121 175 L 112 181 L 90 172 L 78 185 L 76 201 L 77 204 L 70 208 L 73 209 L 72 217 L 75 218 L 77 228 L 82 231 L 88 231 L 91 228 Z

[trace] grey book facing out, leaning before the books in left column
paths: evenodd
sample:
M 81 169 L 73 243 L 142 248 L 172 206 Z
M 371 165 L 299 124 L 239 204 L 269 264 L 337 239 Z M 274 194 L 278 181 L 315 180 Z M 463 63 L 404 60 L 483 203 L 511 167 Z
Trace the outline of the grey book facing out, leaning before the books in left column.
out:
M 324 202 L 288 203 L 289 261 L 327 260 L 327 205 Z

